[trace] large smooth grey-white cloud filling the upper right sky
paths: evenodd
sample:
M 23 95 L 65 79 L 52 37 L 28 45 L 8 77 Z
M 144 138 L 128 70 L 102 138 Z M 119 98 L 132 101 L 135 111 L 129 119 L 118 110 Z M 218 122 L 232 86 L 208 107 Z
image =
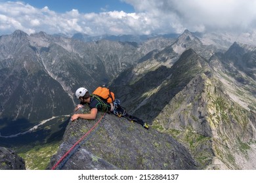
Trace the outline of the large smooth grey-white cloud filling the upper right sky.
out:
M 169 20 L 169 27 L 177 31 L 185 28 L 190 31 L 255 29 L 256 0 L 123 1 L 137 11 L 146 12 L 153 20 L 162 20 L 166 25 Z

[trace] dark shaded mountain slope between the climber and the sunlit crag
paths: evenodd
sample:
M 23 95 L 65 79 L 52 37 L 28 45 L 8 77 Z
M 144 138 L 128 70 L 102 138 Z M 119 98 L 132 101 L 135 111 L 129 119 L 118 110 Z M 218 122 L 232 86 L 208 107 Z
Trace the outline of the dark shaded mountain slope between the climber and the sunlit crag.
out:
M 137 116 L 142 116 L 145 120 L 150 121 L 194 76 L 198 73 L 208 72 L 206 59 L 190 48 L 172 67 L 158 67 L 154 71 L 148 71 L 139 80 L 132 82 L 129 80 L 131 78 L 129 75 L 132 72 L 127 72 L 128 75 L 120 75 L 112 87 L 123 88 L 117 93 L 121 101 L 124 101 L 123 105 L 135 112 Z M 128 80 L 119 82 L 119 80 L 124 80 L 123 77 Z M 129 85 L 125 83 L 129 83 Z

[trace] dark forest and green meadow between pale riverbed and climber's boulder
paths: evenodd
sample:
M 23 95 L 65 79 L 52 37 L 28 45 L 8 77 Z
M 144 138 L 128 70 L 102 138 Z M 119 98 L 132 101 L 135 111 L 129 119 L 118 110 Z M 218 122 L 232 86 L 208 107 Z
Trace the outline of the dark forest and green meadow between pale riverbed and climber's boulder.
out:
M 46 169 L 50 158 L 58 150 L 68 122 L 68 116 L 58 116 L 39 125 L 31 133 L 8 139 L 0 138 L 0 145 L 14 149 L 24 159 L 26 169 Z

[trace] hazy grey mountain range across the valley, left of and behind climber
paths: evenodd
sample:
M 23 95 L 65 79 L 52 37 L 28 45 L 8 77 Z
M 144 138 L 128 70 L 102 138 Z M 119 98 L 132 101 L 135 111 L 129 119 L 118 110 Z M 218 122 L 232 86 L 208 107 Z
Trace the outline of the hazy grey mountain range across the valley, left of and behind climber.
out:
M 132 42 L 83 42 L 39 32 L 14 31 L 0 37 L 1 134 L 26 131 L 40 120 L 72 112 L 74 92 L 93 91 L 168 39 Z M 18 123 L 17 123 L 18 122 Z M 12 127 L 15 126 L 15 128 Z M 8 132 L 7 132 L 8 131 Z

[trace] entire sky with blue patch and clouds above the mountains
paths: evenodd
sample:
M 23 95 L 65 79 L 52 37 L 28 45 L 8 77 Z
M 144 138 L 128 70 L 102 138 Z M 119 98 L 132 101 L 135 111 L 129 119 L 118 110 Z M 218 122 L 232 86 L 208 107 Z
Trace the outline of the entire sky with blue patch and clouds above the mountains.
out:
M 0 35 L 256 33 L 256 0 L 0 0 Z

